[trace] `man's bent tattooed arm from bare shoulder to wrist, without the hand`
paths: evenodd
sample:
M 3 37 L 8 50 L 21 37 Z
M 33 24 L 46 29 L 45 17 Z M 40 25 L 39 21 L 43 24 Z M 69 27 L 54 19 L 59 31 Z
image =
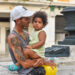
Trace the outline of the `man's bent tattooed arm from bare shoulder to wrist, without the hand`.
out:
M 15 35 L 16 36 L 16 35 Z M 14 35 L 8 36 L 8 44 L 11 50 L 14 53 L 14 56 L 17 60 L 17 62 L 23 67 L 23 68 L 29 68 L 32 67 L 33 63 L 35 63 L 35 60 L 26 59 L 24 57 L 21 43 L 17 37 Z

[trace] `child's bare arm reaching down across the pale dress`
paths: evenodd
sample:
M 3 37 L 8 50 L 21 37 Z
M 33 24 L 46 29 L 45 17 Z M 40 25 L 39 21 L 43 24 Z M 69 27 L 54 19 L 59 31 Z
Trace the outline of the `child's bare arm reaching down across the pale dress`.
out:
M 39 48 L 41 46 L 43 46 L 45 44 L 45 40 L 46 40 L 46 33 L 44 31 L 41 31 L 38 35 L 39 41 L 33 45 L 27 45 L 27 48 Z

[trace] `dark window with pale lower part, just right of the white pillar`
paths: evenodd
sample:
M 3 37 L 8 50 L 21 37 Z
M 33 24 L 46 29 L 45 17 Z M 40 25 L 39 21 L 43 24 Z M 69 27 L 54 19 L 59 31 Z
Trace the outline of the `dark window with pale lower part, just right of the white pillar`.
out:
M 63 41 L 67 35 L 65 35 L 64 28 L 66 26 L 66 21 L 64 16 L 57 15 L 55 18 L 55 41 Z

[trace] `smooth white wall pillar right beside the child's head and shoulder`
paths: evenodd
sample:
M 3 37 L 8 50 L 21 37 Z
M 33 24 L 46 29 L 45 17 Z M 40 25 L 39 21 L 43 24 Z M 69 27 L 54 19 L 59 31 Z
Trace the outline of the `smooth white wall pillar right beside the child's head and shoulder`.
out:
M 47 34 L 46 47 L 55 44 L 55 17 L 48 17 L 48 25 L 44 28 Z

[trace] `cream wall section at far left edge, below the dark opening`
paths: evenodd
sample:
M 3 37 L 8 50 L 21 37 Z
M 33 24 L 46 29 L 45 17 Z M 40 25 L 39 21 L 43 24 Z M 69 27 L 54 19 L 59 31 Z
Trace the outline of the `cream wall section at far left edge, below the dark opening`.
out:
M 9 23 L 0 22 L 0 54 L 6 52 L 6 27 L 9 27 Z

